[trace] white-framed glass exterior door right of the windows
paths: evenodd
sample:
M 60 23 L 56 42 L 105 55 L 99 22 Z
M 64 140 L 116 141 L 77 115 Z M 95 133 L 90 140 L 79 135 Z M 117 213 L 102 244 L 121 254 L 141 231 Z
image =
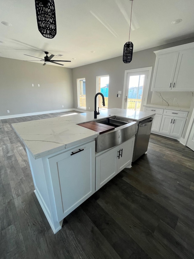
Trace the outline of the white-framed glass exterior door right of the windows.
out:
M 143 104 L 147 103 L 151 71 L 150 67 L 125 71 L 123 109 L 143 111 Z

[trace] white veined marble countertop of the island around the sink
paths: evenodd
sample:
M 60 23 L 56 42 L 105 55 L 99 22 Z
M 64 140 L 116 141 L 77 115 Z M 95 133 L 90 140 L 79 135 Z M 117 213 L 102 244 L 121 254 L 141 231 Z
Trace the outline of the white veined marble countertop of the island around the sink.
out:
M 124 109 L 101 110 L 94 119 L 94 112 L 26 121 L 12 124 L 19 138 L 35 159 L 53 154 L 84 141 L 96 138 L 99 133 L 77 124 L 86 121 L 98 121 L 109 116 L 120 116 L 134 121 L 142 121 L 155 113 L 128 111 Z M 116 129 L 115 129 L 116 130 Z

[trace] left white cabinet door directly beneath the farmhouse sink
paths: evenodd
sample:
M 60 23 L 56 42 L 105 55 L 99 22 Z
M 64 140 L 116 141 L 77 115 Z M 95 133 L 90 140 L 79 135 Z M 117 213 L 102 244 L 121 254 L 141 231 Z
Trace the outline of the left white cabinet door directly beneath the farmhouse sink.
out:
M 119 147 L 112 148 L 96 157 L 96 190 L 117 174 Z

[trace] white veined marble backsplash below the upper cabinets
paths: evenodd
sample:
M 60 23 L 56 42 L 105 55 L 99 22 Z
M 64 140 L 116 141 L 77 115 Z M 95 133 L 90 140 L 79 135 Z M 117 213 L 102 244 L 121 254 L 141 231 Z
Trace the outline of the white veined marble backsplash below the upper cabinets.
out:
M 152 92 L 151 104 L 190 108 L 193 97 L 194 92 Z

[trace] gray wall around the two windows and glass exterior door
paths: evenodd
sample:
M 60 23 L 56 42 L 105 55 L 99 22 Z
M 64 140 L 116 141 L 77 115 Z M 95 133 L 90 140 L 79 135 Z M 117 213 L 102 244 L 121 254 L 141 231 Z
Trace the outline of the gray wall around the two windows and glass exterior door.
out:
M 119 90 L 122 90 L 122 94 L 123 94 L 125 70 L 152 66 L 152 76 L 151 76 L 148 101 L 147 101 L 147 103 L 150 103 L 152 98 L 152 92 L 150 91 L 150 89 L 151 89 L 154 65 L 156 60 L 156 55 L 155 53 L 153 53 L 153 51 L 169 48 L 172 46 L 178 46 L 178 45 L 186 44 L 190 42 L 194 42 L 194 37 L 186 40 L 176 41 L 174 43 L 165 44 L 155 48 L 134 52 L 132 62 L 129 64 L 123 63 L 122 56 L 119 56 L 109 60 L 103 60 L 89 65 L 73 68 L 74 107 L 77 108 L 77 105 L 78 105 L 77 81 L 76 81 L 77 78 L 85 77 L 87 111 L 94 110 L 94 96 L 96 94 L 96 77 L 103 76 L 103 75 L 109 75 L 108 108 L 121 108 L 122 95 L 120 98 L 116 97 L 116 95 L 118 94 Z M 90 107 L 90 110 L 89 110 L 89 107 Z

